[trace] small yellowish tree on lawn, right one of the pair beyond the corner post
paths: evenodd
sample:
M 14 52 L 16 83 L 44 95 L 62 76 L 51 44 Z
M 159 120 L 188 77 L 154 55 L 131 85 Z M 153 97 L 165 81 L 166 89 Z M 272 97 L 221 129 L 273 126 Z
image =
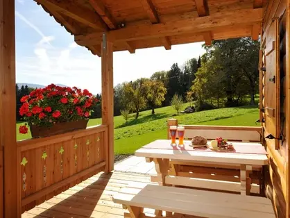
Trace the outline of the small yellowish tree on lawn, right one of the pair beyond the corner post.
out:
M 161 81 L 145 81 L 144 86 L 146 88 L 146 100 L 148 106 L 152 109 L 151 114 L 155 114 L 155 107 L 161 106 L 162 101 L 165 100 L 164 96 L 167 93 L 167 89 Z

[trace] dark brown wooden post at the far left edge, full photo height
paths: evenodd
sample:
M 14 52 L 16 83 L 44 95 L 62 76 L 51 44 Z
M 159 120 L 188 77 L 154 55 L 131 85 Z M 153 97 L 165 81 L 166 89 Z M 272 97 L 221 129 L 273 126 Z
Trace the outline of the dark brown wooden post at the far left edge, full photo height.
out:
M 17 201 L 19 162 L 16 160 L 15 98 L 15 0 L 0 0 L 0 145 L 3 147 L 4 217 L 21 217 Z

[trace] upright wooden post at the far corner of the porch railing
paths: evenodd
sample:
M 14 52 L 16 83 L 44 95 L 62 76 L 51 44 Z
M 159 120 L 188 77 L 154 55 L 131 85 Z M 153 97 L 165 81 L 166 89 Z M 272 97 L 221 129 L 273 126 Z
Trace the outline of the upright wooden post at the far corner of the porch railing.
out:
M 113 44 L 103 33 L 101 48 L 102 64 L 102 124 L 108 125 L 105 171 L 114 169 L 114 86 L 113 86 Z

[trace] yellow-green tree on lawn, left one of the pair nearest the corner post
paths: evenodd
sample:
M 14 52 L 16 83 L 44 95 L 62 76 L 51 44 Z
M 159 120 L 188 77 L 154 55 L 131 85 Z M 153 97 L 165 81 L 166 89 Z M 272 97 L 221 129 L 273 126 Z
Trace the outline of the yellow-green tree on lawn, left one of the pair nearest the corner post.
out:
M 136 119 L 139 117 L 139 111 L 146 108 L 146 87 L 144 82 L 146 78 L 139 78 L 137 81 L 124 83 L 123 94 L 126 106 L 136 112 Z

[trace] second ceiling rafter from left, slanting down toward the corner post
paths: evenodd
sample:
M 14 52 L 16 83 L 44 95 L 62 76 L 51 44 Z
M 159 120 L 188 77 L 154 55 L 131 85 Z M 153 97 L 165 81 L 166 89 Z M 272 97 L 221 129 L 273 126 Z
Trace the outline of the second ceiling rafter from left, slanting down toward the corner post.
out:
M 101 0 L 89 0 L 89 3 L 103 19 L 103 22 L 105 22 L 105 24 L 109 26 L 110 29 L 117 28 L 117 22 L 114 20 L 114 17 L 112 17 L 109 10 L 104 6 Z

